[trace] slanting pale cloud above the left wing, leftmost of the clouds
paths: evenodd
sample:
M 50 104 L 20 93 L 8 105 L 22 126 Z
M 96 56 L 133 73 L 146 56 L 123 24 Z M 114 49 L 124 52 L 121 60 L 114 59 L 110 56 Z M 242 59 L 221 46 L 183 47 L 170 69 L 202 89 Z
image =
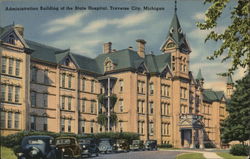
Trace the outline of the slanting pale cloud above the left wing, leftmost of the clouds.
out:
M 44 33 L 53 34 L 59 31 L 63 31 L 68 27 L 77 26 L 82 21 L 81 19 L 88 14 L 89 12 L 79 12 L 63 18 L 53 19 L 44 25 L 46 27 Z

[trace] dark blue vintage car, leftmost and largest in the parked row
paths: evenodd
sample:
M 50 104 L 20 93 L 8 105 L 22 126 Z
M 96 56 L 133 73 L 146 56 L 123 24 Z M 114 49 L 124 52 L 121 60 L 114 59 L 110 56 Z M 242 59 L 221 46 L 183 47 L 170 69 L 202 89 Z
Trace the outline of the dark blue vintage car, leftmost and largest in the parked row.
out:
M 50 136 L 26 136 L 22 139 L 21 147 L 16 152 L 18 159 L 58 159 L 60 152 L 53 145 Z

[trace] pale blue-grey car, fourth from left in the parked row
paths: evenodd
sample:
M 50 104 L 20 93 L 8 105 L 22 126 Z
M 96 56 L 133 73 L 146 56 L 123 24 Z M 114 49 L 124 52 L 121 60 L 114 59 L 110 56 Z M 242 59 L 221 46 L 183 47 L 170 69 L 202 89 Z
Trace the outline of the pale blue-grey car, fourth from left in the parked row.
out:
M 100 152 L 107 153 L 107 152 L 113 152 L 114 141 L 110 138 L 102 138 L 99 140 L 99 146 L 98 149 Z

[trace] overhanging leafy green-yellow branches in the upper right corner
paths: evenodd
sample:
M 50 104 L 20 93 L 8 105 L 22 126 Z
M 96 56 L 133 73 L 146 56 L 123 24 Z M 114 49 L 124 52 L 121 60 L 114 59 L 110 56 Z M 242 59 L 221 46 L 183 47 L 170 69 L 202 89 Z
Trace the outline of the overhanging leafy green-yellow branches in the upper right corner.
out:
M 201 30 L 213 29 L 217 26 L 219 20 L 227 4 L 235 5 L 231 11 L 231 24 L 227 26 L 223 33 L 211 31 L 205 42 L 208 40 L 221 41 L 219 49 L 213 52 L 208 59 L 214 60 L 221 57 L 222 62 L 231 59 L 232 63 L 227 73 L 233 73 L 237 68 L 250 68 L 250 3 L 249 0 L 204 0 L 204 3 L 211 3 L 205 16 L 204 23 L 197 23 L 197 27 Z

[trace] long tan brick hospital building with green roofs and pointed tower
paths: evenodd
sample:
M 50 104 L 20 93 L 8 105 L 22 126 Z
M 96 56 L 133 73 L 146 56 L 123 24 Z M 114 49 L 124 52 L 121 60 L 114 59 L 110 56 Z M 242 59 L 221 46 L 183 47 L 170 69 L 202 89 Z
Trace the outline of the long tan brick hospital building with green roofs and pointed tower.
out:
M 189 70 L 191 49 L 176 13 L 162 54 L 146 54 L 142 39 L 133 48 L 112 50 L 105 43 L 96 58 L 25 40 L 24 28 L 0 28 L 1 133 L 20 130 L 97 133 L 103 113 L 98 95 L 117 96 L 112 131 L 137 132 L 175 147 L 213 142 L 220 146 L 223 92 L 204 89 L 201 71 Z M 232 90 L 228 82 L 228 92 Z

